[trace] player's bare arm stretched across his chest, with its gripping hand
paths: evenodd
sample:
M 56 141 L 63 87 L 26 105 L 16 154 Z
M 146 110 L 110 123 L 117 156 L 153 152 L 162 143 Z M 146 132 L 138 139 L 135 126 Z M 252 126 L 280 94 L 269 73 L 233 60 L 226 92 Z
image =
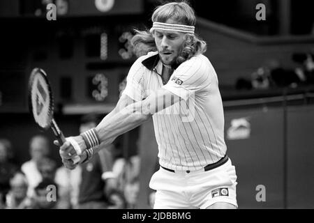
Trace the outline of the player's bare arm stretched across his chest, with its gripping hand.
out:
M 96 132 L 101 143 L 101 146 L 98 146 L 98 148 L 111 144 L 120 134 L 124 134 L 125 132 L 136 128 L 138 125 L 149 120 L 153 114 L 170 107 L 174 103 L 179 102 L 179 100 L 181 99 L 178 95 L 175 95 L 166 89 L 160 89 L 155 93 L 151 93 L 146 99 L 124 107 L 111 118 L 106 118 L 96 126 Z M 87 146 L 84 144 L 82 136 L 74 138 L 80 145 L 81 150 L 84 151 Z M 98 152 L 98 150 L 95 152 Z M 69 155 L 69 153 L 72 155 Z M 60 147 L 60 155 L 63 160 L 66 161 L 75 157 L 77 153 L 73 146 L 66 141 Z M 64 164 L 70 167 L 70 169 L 75 168 L 71 163 Z

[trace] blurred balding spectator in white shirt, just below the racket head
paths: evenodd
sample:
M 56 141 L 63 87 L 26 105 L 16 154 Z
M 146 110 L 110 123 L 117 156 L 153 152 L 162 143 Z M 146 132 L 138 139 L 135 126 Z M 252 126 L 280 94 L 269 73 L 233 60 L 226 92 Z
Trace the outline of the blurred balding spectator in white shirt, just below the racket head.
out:
M 31 138 L 29 143 L 29 153 L 31 155 L 31 160 L 22 164 L 22 171 L 29 182 L 29 191 L 27 193 L 31 197 L 33 195 L 33 189 L 41 182 L 41 180 L 43 180 L 38 171 L 38 162 L 44 157 L 47 157 L 49 153 L 49 143 L 47 138 L 42 135 L 36 135 Z

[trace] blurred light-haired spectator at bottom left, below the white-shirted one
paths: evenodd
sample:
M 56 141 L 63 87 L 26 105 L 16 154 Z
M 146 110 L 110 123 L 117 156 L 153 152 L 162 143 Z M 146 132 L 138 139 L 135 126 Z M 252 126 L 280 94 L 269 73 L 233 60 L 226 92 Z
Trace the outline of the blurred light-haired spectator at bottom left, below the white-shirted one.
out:
M 26 176 L 17 171 L 10 178 L 10 191 L 6 195 L 6 208 L 28 209 L 31 208 L 31 199 L 27 196 L 28 182 Z

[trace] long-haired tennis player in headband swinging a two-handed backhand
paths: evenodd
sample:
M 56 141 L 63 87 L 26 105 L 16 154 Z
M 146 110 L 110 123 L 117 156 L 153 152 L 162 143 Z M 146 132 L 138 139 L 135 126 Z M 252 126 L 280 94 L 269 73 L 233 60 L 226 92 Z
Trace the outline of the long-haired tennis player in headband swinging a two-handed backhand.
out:
M 223 103 L 218 78 L 202 53 L 206 43 L 194 33 L 187 3 L 167 3 L 154 11 L 150 31 L 133 43 L 154 44 L 130 68 L 117 107 L 96 128 L 69 137 L 60 147 L 63 164 L 88 160 L 90 149 L 154 121 L 160 169 L 151 177 L 154 208 L 237 208 L 237 176 L 226 155 Z M 71 143 L 70 143 L 71 141 Z M 57 142 L 56 142 L 57 144 Z

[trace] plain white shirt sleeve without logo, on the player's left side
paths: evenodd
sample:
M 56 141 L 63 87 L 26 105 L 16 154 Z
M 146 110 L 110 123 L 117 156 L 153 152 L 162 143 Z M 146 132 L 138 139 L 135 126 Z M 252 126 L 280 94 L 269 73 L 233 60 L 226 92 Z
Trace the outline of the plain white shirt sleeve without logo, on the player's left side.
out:
M 142 59 L 139 58 L 128 72 L 126 77 L 126 89 L 122 94 L 128 95 L 135 101 L 143 100 L 146 98 L 144 91 L 144 66 L 142 65 Z

